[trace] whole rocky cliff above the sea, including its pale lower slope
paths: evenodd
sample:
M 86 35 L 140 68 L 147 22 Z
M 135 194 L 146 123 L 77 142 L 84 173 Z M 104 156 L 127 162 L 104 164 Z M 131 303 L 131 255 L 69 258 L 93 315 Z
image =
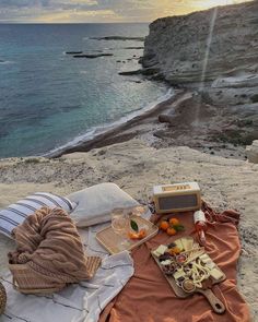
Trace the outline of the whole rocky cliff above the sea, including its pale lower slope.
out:
M 159 19 L 144 45 L 142 73 L 201 92 L 231 135 L 258 139 L 257 0 Z

